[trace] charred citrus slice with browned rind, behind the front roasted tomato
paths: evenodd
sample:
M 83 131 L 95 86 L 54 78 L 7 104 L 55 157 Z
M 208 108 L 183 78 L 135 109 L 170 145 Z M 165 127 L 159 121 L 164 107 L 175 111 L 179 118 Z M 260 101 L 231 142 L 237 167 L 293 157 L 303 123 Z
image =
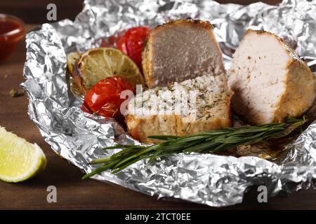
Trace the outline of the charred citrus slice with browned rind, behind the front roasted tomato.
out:
M 134 85 L 145 83 L 138 66 L 115 48 L 93 48 L 84 52 L 74 64 L 74 83 L 83 94 L 99 80 L 115 75 L 123 76 Z

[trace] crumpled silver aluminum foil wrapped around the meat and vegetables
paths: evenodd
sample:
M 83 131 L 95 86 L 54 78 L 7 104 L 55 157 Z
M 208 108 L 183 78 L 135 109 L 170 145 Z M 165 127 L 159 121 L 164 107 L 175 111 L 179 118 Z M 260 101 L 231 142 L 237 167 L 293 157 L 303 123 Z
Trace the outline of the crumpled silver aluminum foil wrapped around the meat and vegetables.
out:
M 84 113 L 70 92 L 66 54 L 98 46 L 100 38 L 136 25 L 154 27 L 175 18 L 211 20 L 228 69 L 232 52 L 248 27 L 273 31 L 289 41 L 299 55 L 316 59 L 316 3 L 287 0 L 278 6 L 249 6 L 215 1 L 86 0 L 74 22 L 44 24 L 27 34 L 27 59 L 22 87 L 29 97 L 29 117 L 53 150 L 84 172 L 88 162 L 117 151 L 114 144 L 140 144 L 115 122 Z M 172 155 L 147 165 L 140 161 L 117 176 L 93 176 L 147 195 L 223 207 L 241 203 L 249 186 L 265 185 L 269 195 L 315 187 L 316 123 L 312 123 L 277 162 L 256 157 L 211 154 Z M 254 199 L 256 200 L 256 199 Z

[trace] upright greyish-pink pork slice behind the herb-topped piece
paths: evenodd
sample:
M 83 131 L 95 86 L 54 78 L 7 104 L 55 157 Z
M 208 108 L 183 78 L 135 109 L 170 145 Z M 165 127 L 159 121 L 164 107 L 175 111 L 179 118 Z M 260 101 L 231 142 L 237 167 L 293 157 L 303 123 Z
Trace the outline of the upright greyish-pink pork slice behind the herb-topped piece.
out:
M 150 31 L 143 51 L 148 87 L 224 72 L 222 52 L 209 22 L 175 20 Z

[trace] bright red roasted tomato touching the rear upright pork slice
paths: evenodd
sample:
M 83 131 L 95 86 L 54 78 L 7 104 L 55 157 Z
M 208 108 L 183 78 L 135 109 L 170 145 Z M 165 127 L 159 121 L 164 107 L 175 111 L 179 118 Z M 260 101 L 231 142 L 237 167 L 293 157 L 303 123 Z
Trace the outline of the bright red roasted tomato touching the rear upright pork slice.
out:
M 117 42 L 117 48 L 131 57 L 141 69 L 142 52 L 150 27 L 133 27 L 128 29 Z

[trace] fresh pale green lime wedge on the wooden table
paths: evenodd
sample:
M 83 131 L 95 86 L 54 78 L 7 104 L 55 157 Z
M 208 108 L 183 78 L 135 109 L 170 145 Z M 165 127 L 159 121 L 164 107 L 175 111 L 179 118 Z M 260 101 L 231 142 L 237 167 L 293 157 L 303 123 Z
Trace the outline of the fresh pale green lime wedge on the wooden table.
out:
M 25 181 L 46 167 L 46 157 L 37 146 L 0 126 L 0 180 Z

